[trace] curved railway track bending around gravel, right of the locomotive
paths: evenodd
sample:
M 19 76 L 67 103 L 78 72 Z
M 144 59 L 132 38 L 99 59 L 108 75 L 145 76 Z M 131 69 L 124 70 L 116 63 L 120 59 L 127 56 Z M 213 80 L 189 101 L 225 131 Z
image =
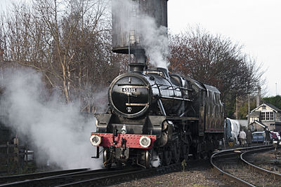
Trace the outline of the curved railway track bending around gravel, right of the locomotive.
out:
M 211 156 L 211 165 L 237 186 L 281 186 L 281 174 L 257 167 L 244 158 L 273 149 L 273 146 L 254 146 L 220 151 Z

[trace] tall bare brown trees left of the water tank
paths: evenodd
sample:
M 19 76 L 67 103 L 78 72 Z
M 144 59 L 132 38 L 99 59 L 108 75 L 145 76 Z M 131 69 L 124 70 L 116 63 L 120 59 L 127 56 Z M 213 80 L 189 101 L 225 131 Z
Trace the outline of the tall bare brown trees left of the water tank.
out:
M 119 55 L 111 52 L 108 3 L 34 0 L 32 6 L 15 5 L 2 17 L 4 57 L 42 71 L 50 88 L 62 90 L 66 102 L 77 97 L 85 102 L 84 96 L 91 95 L 85 103 L 89 104 L 92 93 L 120 71 Z

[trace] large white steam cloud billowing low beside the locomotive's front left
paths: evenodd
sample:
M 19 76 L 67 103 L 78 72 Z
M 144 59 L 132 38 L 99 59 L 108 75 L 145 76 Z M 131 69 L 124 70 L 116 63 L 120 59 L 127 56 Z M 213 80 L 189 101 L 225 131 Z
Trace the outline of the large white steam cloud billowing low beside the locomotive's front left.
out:
M 36 158 L 48 160 L 63 169 L 100 168 L 101 160 L 94 155 L 89 141 L 96 131 L 94 118 L 85 120 L 74 103 L 64 104 L 58 92 L 46 99 L 41 74 L 34 70 L 9 70 L 1 78 L 1 113 L 11 127 L 34 144 Z

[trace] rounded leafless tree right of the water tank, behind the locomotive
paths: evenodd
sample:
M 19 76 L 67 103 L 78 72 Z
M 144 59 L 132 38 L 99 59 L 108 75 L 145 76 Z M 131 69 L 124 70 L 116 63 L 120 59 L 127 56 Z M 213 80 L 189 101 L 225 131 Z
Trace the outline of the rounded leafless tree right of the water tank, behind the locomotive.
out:
M 172 71 L 215 85 L 226 108 L 232 107 L 236 97 L 255 92 L 263 83 L 261 64 L 242 53 L 242 46 L 199 27 L 171 36 L 169 60 Z

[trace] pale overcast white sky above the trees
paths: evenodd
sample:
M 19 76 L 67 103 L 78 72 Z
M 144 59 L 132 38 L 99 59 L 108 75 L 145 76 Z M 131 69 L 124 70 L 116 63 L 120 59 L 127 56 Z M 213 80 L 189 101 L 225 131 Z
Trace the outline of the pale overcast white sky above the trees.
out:
M 20 0 L 0 0 L 0 10 L 11 1 Z M 244 53 L 267 70 L 268 96 L 281 95 L 280 8 L 280 0 L 169 0 L 168 27 L 179 33 L 189 25 L 200 25 L 244 46 Z

